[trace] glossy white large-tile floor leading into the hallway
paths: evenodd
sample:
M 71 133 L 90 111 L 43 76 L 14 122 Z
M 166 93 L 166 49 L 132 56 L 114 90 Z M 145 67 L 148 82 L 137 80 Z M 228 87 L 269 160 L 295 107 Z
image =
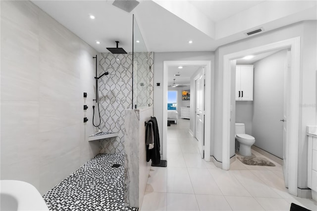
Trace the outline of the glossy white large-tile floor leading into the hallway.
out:
M 168 127 L 167 167 L 152 167 L 141 211 L 289 211 L 291 203 L 316 211 L 312 199 L 288 194 L 282 166 L 245 165 L 229 171 L 200 158 L 189 120 Z M 253 151 L 257 157 L 264 157 Z

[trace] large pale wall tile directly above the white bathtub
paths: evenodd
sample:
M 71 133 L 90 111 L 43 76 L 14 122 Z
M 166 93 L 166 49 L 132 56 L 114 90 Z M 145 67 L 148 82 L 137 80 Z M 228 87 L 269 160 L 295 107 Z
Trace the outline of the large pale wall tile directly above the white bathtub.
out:
M 1 179 L 39 185 L 38 111 L 34 101 L 1 102 Z

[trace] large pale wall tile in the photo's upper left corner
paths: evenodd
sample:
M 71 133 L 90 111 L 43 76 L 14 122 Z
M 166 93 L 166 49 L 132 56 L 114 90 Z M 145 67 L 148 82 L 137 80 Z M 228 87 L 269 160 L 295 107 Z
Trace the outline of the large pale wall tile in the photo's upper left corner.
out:
M 1 6 L 12 5 L 1 1 Z M 39 38 L 33 9 L 30 8 L 30 18 L 34 22 L 23 19 L 25 24 L 29 24 L 23 26 L 16 19 L 10 19 L 7 10 L 1 12 L 1 100 L 38 100 Z M 12 13 L 18 11 L 13 10 Z M 16 15 L 25 17 L 26 14 Z

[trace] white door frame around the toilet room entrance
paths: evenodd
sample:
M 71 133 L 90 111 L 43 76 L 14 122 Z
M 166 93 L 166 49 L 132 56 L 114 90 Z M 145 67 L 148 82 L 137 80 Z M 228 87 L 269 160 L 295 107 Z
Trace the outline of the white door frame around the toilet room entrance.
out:
M 299 139 L 299 110 L 300 110 L 300 37 L 295 37 L 252 49 L 229 53 L 223 55 L 223 111 L 222 111 L 222 169 L 230 168 L 230 105 L 231 105 L 231 69 L 230 60 L 253 54 L 263 53 L 272 50 L 291 49 L 291 69 L 290 69 L 290 90 L 288 104 L 288 123 L 287 123 L 287 142 L 288 149 L 286 164 L 289 169 L 288 192 L 297 196 L 297 177 L 298 177 L 298 139 Z M 290 165 L 290 163 L 292 163 Z

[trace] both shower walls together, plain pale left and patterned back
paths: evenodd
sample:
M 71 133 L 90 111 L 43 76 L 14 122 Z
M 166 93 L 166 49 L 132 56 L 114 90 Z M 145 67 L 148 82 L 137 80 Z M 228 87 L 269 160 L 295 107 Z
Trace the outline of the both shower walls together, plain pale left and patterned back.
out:
M 26 181 L 44 195 L 97 154 L 124 153 L 124 109 L 153 105 L 154 56 L 99 53 L 31 1 L 0 4 L 0 176 Z M 97 132 L 96 54 L 99 73 L 109 72 L 99 80 L 101 129 L 118 136 L 88 142 Z M 132 100 L 134 90 L 139 94 Z

